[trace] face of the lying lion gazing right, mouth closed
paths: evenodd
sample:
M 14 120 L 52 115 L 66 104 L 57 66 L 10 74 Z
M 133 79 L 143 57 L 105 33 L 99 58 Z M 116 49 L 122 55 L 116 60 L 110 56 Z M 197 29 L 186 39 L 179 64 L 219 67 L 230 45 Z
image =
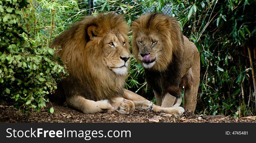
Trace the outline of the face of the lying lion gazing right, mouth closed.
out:
M 102 57 L 107 67 L 117 75 L 127 74 L 130 58 L 128 41 L 121 33 L 110 31 L 103 42 Z

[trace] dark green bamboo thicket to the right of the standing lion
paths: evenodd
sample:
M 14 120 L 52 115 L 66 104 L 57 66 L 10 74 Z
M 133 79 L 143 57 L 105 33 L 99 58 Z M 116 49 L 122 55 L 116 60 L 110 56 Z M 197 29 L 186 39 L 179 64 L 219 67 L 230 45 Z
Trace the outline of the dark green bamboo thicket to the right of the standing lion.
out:
M 248 55 L 248 48 L 255 50 L 255 4 L 255 0 L 173 3 L 184 35 L 190 37 L 201 53 L 196 108 L 203 111 L 200 113 L 234 117 L 255 114 L 250 71 L 255 65 L 250 66 Z

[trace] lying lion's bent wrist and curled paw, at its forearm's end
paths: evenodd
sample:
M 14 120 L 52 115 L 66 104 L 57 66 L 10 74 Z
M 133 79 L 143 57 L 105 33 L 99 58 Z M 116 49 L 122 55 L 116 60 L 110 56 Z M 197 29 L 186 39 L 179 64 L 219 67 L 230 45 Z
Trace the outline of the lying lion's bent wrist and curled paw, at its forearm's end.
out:
M 112 99 L 111 106 L 116 112 L 121 114 L 132 114 L 135 109 L 133 101 L 124 99 L 122 97 L 116 97 Z

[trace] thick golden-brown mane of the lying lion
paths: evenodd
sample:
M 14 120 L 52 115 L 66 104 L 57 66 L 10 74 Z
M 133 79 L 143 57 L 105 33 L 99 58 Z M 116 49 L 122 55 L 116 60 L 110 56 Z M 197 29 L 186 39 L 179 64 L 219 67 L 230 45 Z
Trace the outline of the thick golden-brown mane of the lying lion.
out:
M 90 26 L 96 27 L 91 31 L 93 40 L 88 35 Z M 75 23 L 51 44 L 57 49 L 55 56 L 61 58 L 69 73 L 56 91 L 56 96 L 62 97 L 61 102 L 65 101 L 63 97 L 75 95 L 94 101 L 122 97 L 126 74 L 115 74 L 102 59 L 102 53 L 106 52 L 102 50 L 106 44 L 104 37 L 110 30 L 121 33 L 125 42 L 129 43 L 129 26 L 122 16 L 112 13 L 87 17 Z M 59 98 L 57 100 L 60 101 Z

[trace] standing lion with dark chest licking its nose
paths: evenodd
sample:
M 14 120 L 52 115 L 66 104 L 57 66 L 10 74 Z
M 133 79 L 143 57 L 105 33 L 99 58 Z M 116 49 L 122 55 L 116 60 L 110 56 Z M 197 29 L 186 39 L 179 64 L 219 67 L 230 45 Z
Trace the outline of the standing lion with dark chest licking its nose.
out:
M 195 45 L 182 34 L 179 23 L 162 13 L 151 13 L 136 19 L 132 31 L 132 52 L 145 69 L 157 105 L 180 106 L 184 87 L 184 109 L 194 113 L 200 57 Z

